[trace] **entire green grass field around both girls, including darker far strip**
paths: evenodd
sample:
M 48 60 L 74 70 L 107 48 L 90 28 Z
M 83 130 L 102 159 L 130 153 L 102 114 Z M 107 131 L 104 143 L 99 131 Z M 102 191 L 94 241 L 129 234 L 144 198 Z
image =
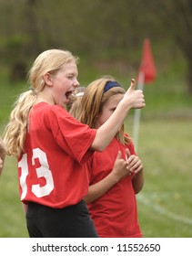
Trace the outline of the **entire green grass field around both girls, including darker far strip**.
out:
M 0 118 L 5 120 L 20 85 L 0 88 Z M 181 78 L 145 87 L 147 107 L 141 112 L 138 155 L 145 166 L 145 187 L 136 196 L 144 237 L 192 237 L 192 99 Z M 132 136 L 133 111 L 126 118 Z M 0 237 L 28 237 L 18 195 L 15 158 L 6 157 L 0 178 Z

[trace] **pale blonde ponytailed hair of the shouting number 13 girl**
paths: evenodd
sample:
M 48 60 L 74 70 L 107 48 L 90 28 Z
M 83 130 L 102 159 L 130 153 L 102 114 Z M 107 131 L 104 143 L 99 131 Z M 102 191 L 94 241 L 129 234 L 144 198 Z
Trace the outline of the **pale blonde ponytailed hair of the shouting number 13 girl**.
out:
M 45 73 L 55 75 L 66 63 L 73 61 L 77 63 L 78 58 L 70 51 L 63 49 L 45 50 L 35 59 L 28 72 L 31 89 L 22 93 L 15 101 L 9 123 L 5 127 L 4 141 L 7 155 L 18 157 L 24 151 L 29 112 L 35 105 L 38 92 L 45 88 L 43 79 Z

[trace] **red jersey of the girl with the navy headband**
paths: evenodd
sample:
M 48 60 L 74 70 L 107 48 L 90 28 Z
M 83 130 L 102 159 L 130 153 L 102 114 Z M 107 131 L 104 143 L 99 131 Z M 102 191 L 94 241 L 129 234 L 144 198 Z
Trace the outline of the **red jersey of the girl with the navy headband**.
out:
M 125 146 L 116 138 L 103 152 L 95 152 L 89 161 L 90 185 L 106 177 L 113 169 L 118 151 L 126 159 L 126 147 L 131 155 L 136 155 L 134 145 Z M 137 220 L 136 195 L 132 176 L 122 178 L 106 194 L 88 205 L 99 237 L 141 237 Z

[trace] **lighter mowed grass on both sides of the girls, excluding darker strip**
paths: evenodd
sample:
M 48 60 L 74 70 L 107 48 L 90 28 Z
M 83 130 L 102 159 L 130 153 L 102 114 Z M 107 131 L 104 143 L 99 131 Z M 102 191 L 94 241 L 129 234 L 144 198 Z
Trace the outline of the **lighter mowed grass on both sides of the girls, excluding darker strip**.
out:
M 126 131 L 131 134 L 132 128 L 130 117 Z M 145 187 L 136 198 L 144 237 L 192 237 L 191 131 L 191 121 L 141 118 L 138 155 Z M 0 179 L 0 237 L 28 237 L 17 186 L 15 158 L 7 157 Z

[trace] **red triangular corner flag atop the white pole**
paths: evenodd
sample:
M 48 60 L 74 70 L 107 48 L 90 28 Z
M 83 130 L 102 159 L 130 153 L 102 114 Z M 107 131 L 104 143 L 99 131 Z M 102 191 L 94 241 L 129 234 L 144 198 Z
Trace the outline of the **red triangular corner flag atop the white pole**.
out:
M 151 52 L 150 41 L 145 39 L 143 57 L 139 68 L 139 74 L 143 73 L 144 82 L 149 83 L 156 79 L 157 69 Z

